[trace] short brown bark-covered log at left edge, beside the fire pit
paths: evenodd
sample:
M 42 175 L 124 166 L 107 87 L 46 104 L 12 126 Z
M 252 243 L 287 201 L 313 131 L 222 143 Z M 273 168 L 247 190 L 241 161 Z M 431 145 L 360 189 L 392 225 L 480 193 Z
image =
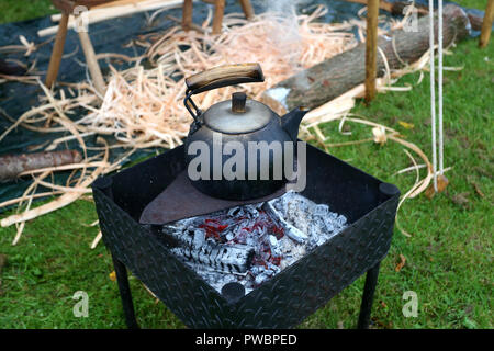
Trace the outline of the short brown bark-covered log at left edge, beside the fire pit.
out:
M 82 156 L 77 150 L 1 156 L 0 182 L 13 180 L 27 171 L 78 163 L 81 160 Z

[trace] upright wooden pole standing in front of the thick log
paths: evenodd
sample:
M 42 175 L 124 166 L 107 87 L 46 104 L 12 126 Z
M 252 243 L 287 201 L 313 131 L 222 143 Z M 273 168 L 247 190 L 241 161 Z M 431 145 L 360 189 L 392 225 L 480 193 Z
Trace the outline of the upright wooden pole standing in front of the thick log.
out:
M 378 16 L 379 0 L 369 0 L 367 5 L 366 38 L 366 102 L 375 98 L 375 76 L 378 66 Z

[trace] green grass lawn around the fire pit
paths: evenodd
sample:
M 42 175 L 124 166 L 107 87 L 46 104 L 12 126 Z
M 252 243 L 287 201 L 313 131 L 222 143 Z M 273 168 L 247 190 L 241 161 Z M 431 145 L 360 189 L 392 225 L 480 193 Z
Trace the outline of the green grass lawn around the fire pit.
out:
M 9 0 L 0 4 L 0 22 L 52 13 L 48 1 Z M 31 3 L 31 1 L 30 1 Z M 485 1 L 461 1 L 483 9 Z M 493 328 L 493 110 L 494 44 L 480 50 L 476 39 L 452 48 L 445 66 L 445 163 L 450 181 L 447 192 L 433 200 L 424 195 L 406 201 L 400 222 L 412 234 L 395 229 L 389 256 L 381 264 L 372 309 L 375 328 Z M 359 103 L 355 113 L 402 133 L 430 155 L 429 81 L 416 86 L 418 73 L 398 84 L 415 86 L 408 92 L 379 94 L 370 106 Z M 405 128 L 400 122 L 413 125 Z M 341 136 L 337 123 L 324 125 L 327 143 L 368 138 L 371 131 L 348 124 L 351 136 Z M 415 173 L 394 173 L 411 166 L 403 148 L 367 143 L 329 149 L 336 157 L 396 184 L 402 193 L 413 185 Z M 111 259 L 104 246 L 89 248 L 98 228 L 94 205 L 78 201 L 27 223 L 20 244 L 12 247 L 15 229 L 0 228 L 0 253 L 8 264 L 1 272 L 0 328 L 124 328 Z M 405 265 L 396 271 L 401 261 Z M 333 298 L 303 321 L 301 328 L 353 328 L 363 279 Z M 144 328 L 184 327 L 162 304 L 156 303 L 131 276 L 138 324 Z M 89 295 L 89 317 L 76 318 L 77 291 Z M 418 297 L 417 317 L 405 317 L 403 295 Z

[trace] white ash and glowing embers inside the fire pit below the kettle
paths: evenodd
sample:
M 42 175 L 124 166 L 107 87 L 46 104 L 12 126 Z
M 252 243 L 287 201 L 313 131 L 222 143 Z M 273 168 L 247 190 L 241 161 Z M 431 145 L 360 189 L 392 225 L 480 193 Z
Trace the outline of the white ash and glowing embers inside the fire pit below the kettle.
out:
M 165 225 L 171 251 L 211 286 L 238 282 L 259 286 L 346 227 L 347 218 L 324 204 L 288 192 Z

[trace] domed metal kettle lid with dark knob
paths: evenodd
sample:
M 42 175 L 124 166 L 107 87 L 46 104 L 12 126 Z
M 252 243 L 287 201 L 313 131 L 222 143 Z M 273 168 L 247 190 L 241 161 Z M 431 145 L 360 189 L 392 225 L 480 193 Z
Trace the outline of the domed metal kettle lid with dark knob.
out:
M 236 92 L 232 94 L 232 100 L 218 102 L 207 109 L 203 121 L 216 132 L 244 134 L 265 127 L 273 115 L 274 112 L 263 103 L 247 99 L 244 92 Z

